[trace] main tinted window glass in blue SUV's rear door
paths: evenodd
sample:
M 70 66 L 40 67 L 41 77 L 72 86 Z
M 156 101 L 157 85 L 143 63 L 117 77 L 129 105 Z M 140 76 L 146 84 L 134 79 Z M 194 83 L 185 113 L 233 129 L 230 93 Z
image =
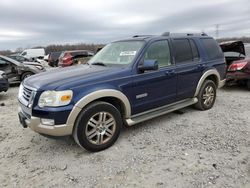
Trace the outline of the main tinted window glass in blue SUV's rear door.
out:
M 173 44 L 176 63 L 192 61 L 193 55 L 188 39 L 174 39 Z

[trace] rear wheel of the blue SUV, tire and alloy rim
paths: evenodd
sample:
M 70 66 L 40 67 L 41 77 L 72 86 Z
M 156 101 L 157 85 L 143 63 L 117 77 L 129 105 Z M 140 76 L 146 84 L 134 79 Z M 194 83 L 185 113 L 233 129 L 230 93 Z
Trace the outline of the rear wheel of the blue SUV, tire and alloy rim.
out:
M 209 110 L 213 107 L 216 99 L 216 85 L 212 80 L 205 80 L 197 96 L 198 102 L 195 108 L 198 110 Z

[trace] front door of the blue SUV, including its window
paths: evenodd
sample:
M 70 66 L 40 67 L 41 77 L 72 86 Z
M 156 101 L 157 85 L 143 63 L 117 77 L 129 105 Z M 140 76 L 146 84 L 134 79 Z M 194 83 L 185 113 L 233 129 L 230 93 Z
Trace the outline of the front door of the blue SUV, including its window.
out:
M 159 69 L 138 72 L 133 77 L 132 114 L 157 108 L 176 100 L 177 76 L 172 63 L 169 41 L 160 40 L 151 43 L 144 52 L 140 64 L 145 60 L 157 60 Z

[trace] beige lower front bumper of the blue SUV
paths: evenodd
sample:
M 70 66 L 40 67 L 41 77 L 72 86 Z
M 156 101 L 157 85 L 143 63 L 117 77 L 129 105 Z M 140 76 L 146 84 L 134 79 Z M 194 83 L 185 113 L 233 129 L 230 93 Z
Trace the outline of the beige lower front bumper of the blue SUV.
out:
M 20 121 L 23 126 L 27 126 L 35 132 L 51 135 L 51 136 L 67 136 L 71 135 L 73 131 L 73 124 L 62 125 L 44 125 L 41 123 L 41 118 L 34 116 L 27 116 L 25 112 L 19 107 L 19 113 L 24 117 Z

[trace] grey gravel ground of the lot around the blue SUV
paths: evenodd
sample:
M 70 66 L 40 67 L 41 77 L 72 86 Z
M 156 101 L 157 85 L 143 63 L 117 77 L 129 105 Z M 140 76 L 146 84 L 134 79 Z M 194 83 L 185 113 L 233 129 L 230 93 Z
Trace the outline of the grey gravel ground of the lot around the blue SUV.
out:
M 125 129 L 88 153 L 69 138 L 23 129 L 18 87 L 0 94 L 0 187 L 250 187 L 250 91 L 218 91 L 213 109 L 186 108 Z

